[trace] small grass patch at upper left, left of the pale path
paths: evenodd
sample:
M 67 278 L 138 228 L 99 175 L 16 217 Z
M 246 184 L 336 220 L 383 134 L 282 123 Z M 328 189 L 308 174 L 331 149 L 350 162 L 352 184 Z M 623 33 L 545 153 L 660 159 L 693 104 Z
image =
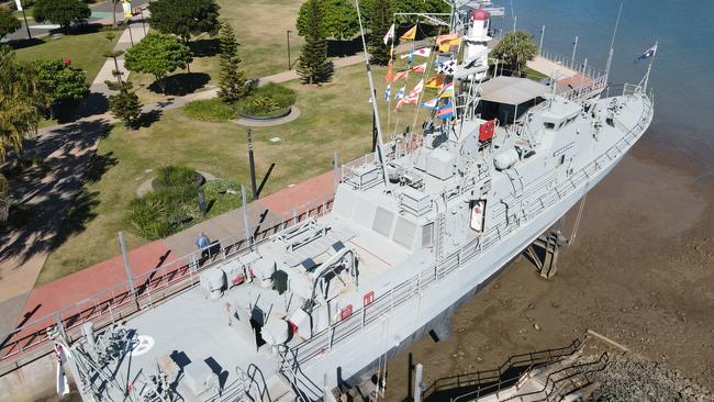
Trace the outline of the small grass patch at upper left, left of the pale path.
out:
M 87 72 L 87 80 L 91 82 L 107 60 L 102 54 L 112 49 L 120 36 L 116 35 L 112 42 L 109 42 L 104 35 L 105 32 L 92 32 L 63 35 L 57 40 L 47 36 L 41 44 L 16 49 L 15 55 L 19 60 L 26 62 L 69 58 L 71 66 L 83 69 Z

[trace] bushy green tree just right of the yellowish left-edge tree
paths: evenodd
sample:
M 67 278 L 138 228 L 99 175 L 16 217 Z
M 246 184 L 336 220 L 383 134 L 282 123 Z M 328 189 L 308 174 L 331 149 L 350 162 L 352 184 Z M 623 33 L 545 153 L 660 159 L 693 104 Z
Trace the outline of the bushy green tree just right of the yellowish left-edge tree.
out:
M 37 72 L 42 90 L 49 96 L 49 113 L 53 118 L 57 105 L 76 104 L 89 94 L 85 71 L 72 68 L 62 60 L 37 60 L 32 65 Z

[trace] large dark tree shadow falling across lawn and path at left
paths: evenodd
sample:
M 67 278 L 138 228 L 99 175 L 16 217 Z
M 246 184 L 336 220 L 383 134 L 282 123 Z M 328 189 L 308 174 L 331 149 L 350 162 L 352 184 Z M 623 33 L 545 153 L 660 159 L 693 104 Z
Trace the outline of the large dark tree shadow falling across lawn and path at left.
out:
M 10 182 L 14 205 L 11 220 L 21 225 L 0 228 L 0 263 L 20 266 L 49 253 L 97 216 L 98 193 L 86 183 L 101 179 L 116 165 L 112 154 L 99 155 L 94 145 L 110 130 L 107 121 L 69 124 L 25 145 L 25 157 L 46 160 L 49 169 L 29 169 Z

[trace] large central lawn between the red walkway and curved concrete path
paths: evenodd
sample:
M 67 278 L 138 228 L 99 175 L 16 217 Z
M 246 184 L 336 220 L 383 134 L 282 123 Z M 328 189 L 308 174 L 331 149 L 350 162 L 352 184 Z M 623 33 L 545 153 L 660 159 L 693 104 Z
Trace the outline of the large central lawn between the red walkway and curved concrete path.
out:
M 380 76 L 377 81 L 383 82 L 384 70 L 375 70 Z M 297 92 L 300 118 L 285 125 L 253 130 L 259 177 L 271 163 L 277 164 L 264 194 L 331 170 L 334 150 L 339 152 L 341 161 L 345 163 L 371 146 L 371 110 L 364 66 L 337 69 L 334 80 L 321 88 L 295 81 L 287 86 Z M 411 124 L 414 107 L 409 108 L 400 114 Z M 271 143 L 269 138 L 275 136 L 282 141 Z M 222 179 L 249 182 L 245 129 L 230 122 L 198 121 L 182 109 L 167 111 L 159 121 L 138 131 L 115 126 L 100 142 L 99 155 L 109 161 L 109 168 L 98 181 L 83 188 L 83 193 L 94 194 L 98 201 L 86 212 L 96 217 L 49 255 L 38 283 L 115 256 L 119 231 L 125 232 L 130 248 L 147 243 L 131 227 L 127 209 L 136 188 L 163 165 L 182 164 Z

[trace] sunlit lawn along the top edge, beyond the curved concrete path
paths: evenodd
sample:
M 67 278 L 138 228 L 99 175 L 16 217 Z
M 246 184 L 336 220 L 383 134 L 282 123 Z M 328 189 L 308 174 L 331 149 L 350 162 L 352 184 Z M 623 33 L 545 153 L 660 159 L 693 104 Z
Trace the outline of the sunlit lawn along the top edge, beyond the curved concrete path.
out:
M 249 78 L 259 78 L 288 69 L 287 31 L 290 30 L 291 62 L 294 64 L 302 37 L 298 36 L 295 19 L 302 0 L 244 0 L 238 7 L 232 0 L 217 0 L 221 5 L 221 21 L 228 22 L 238 40 L 238 52 L 243 63 L 241 67 Z M 217 36 L 201 36 L 193 41 L 194 56 L 190 69 L 176 71 L 174 76 L 178 86 L 190 91 L 215 85 L 219 77 Z M 208 77 L 205 76 L 208 75 Z M 130 79 L 140 88 L 137 94 L 142 102 L 156 102 L 166 96 L 148 89 L 154 77 L 132 72 Z M 170 79 L 170 78 L 169 78 Z M 181 89 L 175 91 L 180 94 Z

